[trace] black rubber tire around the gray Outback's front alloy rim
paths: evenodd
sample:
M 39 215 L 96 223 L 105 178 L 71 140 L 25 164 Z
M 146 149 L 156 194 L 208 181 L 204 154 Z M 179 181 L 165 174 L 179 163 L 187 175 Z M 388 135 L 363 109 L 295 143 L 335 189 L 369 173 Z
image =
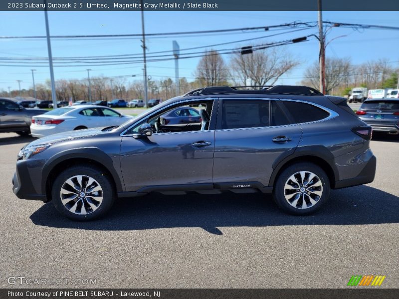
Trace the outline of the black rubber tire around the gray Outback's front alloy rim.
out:
M 76 197 L 75 199 L 71 199 L 71 201 L 67 203 L 68 207 L 72 207 L 74 205 L 74 203 L 78 202 L 77 208 L 75 208 L 77 211 L 76 213 L 73 213 L 72 211 L 68 210 L 66 205 L 64 206 L 64 204 L 61 201 L 61 188 L 63 188 L 63 186 L 66 186 L 64 184 L 66 183 L 66 181 L 69 178 L 77 176 L 77 175 L 82 175 L 83 176 L 82 182 L 85 181 L 86 184 L 88 183 L 88 180 L 89 180 L 88 177 L 93 178 L 96 181 L 95 182 L 96 185 L 98 183 L 102 189 L 101 193 L 97 192 L 97 195 L 98 194 L 102 195 L 102 201 L 98 205 L 96 210 L 93 211 L 90 207 L 90 204 L 86 200 L 85 206 L 87 208 L 84 210 L 86 211 L 87 214 L 82 213 L 82 211 L 83 211 L 82 203 L 84 202 L 83 199 L 79 200 L 78 197 Z M 75 180 L 75 182 L 76 182 L 76 180 Z M 84 186 L 84 183 L 82 183 L 82 186 L 84 188 L 87 187 L 87 186 Z M 65 189 L 63 189 L 63 190 L 65 190 Z M 79 192 L 77 192 L 77 194 L 79 194 Z M 62 195 L 62 196 L 64 196 L 64 195 Z M 69 196 L 69 195 L 65 195 L 65 196 Z M 77 195 L 77 196 L 79 196 L 79 195 Z M 91 202 L 93 202 L 92 198 L 90 196 L 87 196 L 87 197 Z M 116 192 L 115 192 L 115 187 L 114 187 L 111 179 L 108 177 L 108 173 L 106 173 L 105 171 L 103 171 L 102 169 L 100 169 L 98 167 L 83 164 L 83 165 L 79 165 L 79 166 L 72 166 L 72 167 L 62 171 L 57 176 L 57 178 L 55 179 L 53 186 L 52 186 L 51 198 L 52 198 L 51 201 L 53 202 L 55 208 L 63 216 L 65 216 L 69 219 L 75 220 L 75 221 L 89 221 L 89 220 L 99 218 L 109 211 L 109 209 L 112 207 L 112 205 L 115 201 Z

